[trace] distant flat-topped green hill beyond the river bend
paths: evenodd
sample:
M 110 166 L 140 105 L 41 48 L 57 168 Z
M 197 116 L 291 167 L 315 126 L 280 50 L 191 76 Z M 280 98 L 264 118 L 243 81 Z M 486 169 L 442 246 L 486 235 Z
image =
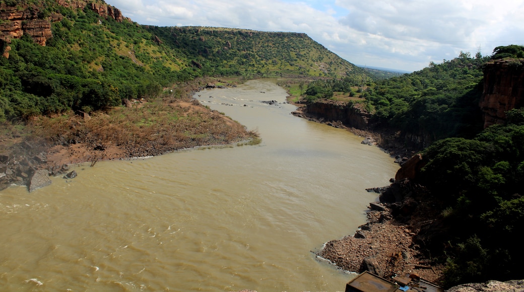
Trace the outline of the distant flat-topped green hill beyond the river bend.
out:
M 148 27 L 209 75 L 344 77 L 363 70 L 304 33 L 215 27 Z

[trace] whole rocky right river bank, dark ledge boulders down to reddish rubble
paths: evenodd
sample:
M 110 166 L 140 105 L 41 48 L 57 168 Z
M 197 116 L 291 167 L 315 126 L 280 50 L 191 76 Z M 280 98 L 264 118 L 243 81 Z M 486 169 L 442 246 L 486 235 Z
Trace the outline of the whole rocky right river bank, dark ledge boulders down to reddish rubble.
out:
M 403 165 L 416 151 L 420 150 L 406 147 L 396 133 L 369 130 L 373 127 L 367 126 L 368 117 L 363 109 L 345 113 L 347 111 L 345 106 L 337 107 L 336 102 L 329 100 L 324 102 L 335 104 L 335 106 L 329 106 L 329 110 L 326 110 L 324 114 L 322 110 L 317 110 L 318 113 L 312 114 L 308 112 L 307 106 L 297 104 L 299 107 L 293 112 L 293 115 L 346 129 L 363 137 L 362 143 L 380 147 L 400 165 Z M 339 108 L 340 112 L 333 112 L 334 108 Z M 343 115 L 353 117 L 341 117 Z M 334 117 L 339 117 L 339 119 L 334 120 Z M 387 199 L 383 199 L 383 194 L 390 188 L 396 189 L 394 192 L 397 193 L 397 198 L 388 202 Z M 412 186 L 407 179 L 402 182 L 394 182 L 391 186 L 369 189 L 369 191 L 379 193 L 382 203 L 370 203 L 367 212 L 368 222 L 359 227 L 352 235 L 327 242 L 315 254 L 344 271 L 354 273 L 369 271 L 386 278 L 395 275 L 417 274 L 425 280 L 442 285 L 444 265 L 432 261 L 431 255 L 424 248 L 424 238 L 427 237 L 424 232 L 427 232 L 425 230 L 427 226 L 422 227 L 429 221 L 439 218 L 439 215 L 433 214 L 431 203 L 424 202 L 420 198 L 419 195 L 423 193 L 423 190 Z

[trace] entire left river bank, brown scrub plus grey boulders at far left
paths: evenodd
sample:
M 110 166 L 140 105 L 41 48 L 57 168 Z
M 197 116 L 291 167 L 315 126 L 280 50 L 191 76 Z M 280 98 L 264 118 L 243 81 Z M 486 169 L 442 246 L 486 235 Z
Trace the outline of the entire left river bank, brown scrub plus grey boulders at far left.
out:
M 209 79 L 165 88 L 152 100 L 96 113 L 36 116 L 0 132 L 0 189 L 30 185 L 37 170 L 68 172 L 70 164 L 157 156 L 257 139 L 258 134 L 192 99 Z

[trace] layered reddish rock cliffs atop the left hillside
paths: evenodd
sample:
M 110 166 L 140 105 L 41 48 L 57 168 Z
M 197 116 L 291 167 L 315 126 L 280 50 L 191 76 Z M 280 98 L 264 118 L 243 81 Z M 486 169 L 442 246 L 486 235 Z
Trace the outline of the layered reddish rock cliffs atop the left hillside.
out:
M 84 9 L 88 7 L 104 18 L 113 18 L 122 22 L 128 20 L 122 12 L 103 2 L 88 3 L 88 0 L 57 0 L 57 4 L 72 9 Z M 12 39 L 30 36 L 40 46 L 46 46 L 46 42 L 53 36 L 51 23 L 62 20 L 60 14 L 46 16 L 45 8 L 38 5 L 17 4 L 14 6 L 5 3 L 0 4 L 0 53 L 9 58 Z

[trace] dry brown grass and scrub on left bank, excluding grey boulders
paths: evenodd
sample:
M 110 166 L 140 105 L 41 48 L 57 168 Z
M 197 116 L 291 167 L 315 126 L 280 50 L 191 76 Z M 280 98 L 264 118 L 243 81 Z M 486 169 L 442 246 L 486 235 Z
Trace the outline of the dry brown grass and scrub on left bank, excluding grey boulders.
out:
M 257 141 L 256 132 L 248 132 L 238 122 L 190 99 L 194 87 L 179 86 L 171 96 L 150 103 L 135 101 L 132 108 L 115 107 L 85 119 L 74 113 L 39 117 L 28 128 L 32 137 L 46 141 L 48 147 L 81 144 L 87 149 L 85 156 L 91 158 L 102 154 L 93 150 L 100 144 L 114 145 L 127 156 L 145 156 L 202 145 Z

